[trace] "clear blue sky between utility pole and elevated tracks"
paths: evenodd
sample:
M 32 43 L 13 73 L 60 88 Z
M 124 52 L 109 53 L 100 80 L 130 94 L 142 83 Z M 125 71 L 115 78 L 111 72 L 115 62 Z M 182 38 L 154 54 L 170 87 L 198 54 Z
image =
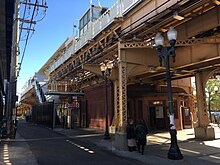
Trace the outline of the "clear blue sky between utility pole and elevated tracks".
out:
M 47 62 L 67 37 L 73 35 L 73 24 L 78 25 L 78 20 L 89 8 L 90 1 L 46 0 L 48 6 L 46 15 L 43 20 L 35 25 L 35 32 L 30 35 L 31 38 L 28 40 L 21 63 L 17 81 L 18 95 L 21 94 L 25 82 Z M 99 1 L 101 6 L 111 7 L 116 0 Z M 31 0 L 31 2 L 34 3 L 35 0 Z M 98 0 L 92 0 L 92 3 L 98 5 Z M 40 12 L 38 16 L 40 16 Z M 21 61 L 24 41 L 21 40 L 19 45 L 20 55 L 18 62 Z

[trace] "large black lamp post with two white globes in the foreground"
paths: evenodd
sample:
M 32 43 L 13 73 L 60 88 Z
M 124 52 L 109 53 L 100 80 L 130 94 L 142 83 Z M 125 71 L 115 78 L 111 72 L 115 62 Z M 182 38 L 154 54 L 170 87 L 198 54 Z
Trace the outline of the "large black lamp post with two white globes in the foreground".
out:
M 172 96 L 172 86 L 171 86 L 171 77 L 170 77 L 170 56 L 175 62 L 176 50 L 176 38 L 177 31 L 171 26 L 167 32 L 167 37 L 170 42 L 170 47 L 163 47 L 164 37 L 161 33 L 157 33 L 155 37 L 155 44 L 157 47 L 157 53 L 159 56 L 160 66 L 162 66 L 162 59 L 164 58 L 166 63 L 166 79 L 167 79 L 167 89 L 168 89 L 168 106 L 169 106 L 169 118 L 170 118 L 170 136 L 171 136 L 171 146 L 167 154 L 169 159 L 180 160 L 183 159 L 183 155 L 180 152 L 180 149 L 177 144 L 177 131 L 174 123 L 174 110 L 173 110 L 173 96 Z

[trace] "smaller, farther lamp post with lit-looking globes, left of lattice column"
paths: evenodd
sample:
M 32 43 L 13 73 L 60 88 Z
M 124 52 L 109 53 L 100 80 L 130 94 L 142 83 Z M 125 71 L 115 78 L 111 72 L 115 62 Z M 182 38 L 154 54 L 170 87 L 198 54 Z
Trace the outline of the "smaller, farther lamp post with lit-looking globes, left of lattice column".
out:
M 112 61 L 105 61 L 100 64 L 100 69 L 102 71 L 102 76 L 105 78 L 105 101 L 106 101 L 106 111 L 105 111 L 105 134 L 104 139 L 110 139 L 109 128 L 108 128 L 108 77 L 111 75 L 111 70 L 113 68 Z

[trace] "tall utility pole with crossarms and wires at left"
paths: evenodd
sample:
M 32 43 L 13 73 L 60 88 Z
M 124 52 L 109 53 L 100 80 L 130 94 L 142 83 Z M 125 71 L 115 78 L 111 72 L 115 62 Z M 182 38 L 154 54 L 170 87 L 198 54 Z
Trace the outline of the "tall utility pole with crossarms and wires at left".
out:
M 44 8 L 46 12 L 46 0 L 42 0 L 41 4 L 38 0 L 35 1 L 35 3 L 31 3 L 31 0 L 15 0 L 15 12 L 14 12 L 14 18 L 13 18 L 13 30 L 12 30 L 12 48 L 11 48 L 11 61 L 10 61 L 10 77 L 9 82 L 7 85 L 7 104 L 6 104 L 6 118 L 7 118 L 7 136 L 14 138 L 14 122 L 16 119 L 16 101 L 17 101 L 17 77 L 19 76 L 20 67 L 18 64 L 21 65 L 21 63 L 18 63 L 18 56 L 19 56 L 19 42 L 20 42 L 20 31 L 27 30 L 28 35 L 26 38 L 26 42 L 29 38 L 29 32 L 34 31 L 34 29 L 31 27 L 32 24 L 36 24 L 37 21 L 34 21 L 34 14 L 35 9 L 38 10 L 39 8 Z M 25 20 L 24 18 L 20 18 L 20 6 L 21 5 L 28 5 L 29 8 L 31 6 L 34 7 L 33 14 L 31 20 Z M 39 20 L 38 20 L 39 21 Z M 20 22 L 22 22 L 20 26 Z M 29 24 L 30 26 L 27 28 L 24 28 L 22 25 L 23 23 Z M 23 56 L 22 56 L 23 60 Z M 21 61 L 22 61 L 21 60 Z

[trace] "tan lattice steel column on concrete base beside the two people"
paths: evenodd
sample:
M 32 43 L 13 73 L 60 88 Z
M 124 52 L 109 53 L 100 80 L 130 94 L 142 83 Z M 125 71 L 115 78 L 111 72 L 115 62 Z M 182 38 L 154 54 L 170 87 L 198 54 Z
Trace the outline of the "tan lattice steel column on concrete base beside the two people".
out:
M 127 64 L 125 51 L 119 47 L 119 123 L 115 134 L 115 147 L 127 150 L 126 125 L 127 125 Z

